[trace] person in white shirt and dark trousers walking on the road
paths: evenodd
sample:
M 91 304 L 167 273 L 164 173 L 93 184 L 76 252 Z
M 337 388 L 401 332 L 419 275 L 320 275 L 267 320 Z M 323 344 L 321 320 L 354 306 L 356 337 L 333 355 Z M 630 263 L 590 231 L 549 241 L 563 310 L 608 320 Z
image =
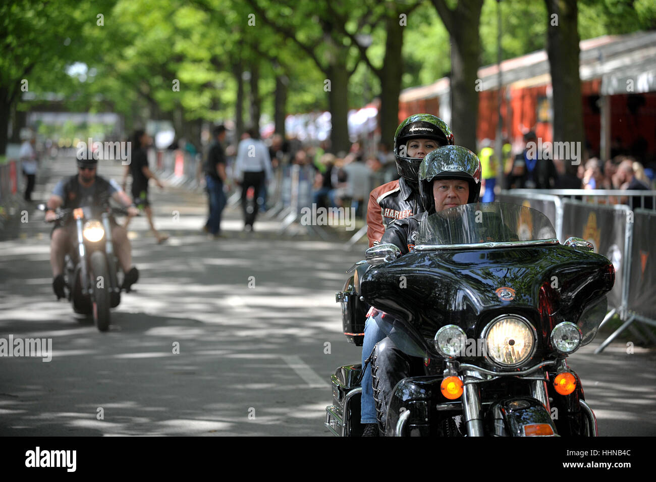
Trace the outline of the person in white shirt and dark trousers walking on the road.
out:
M 266 144 L 259 139 L 257 129 L 249 129 L 248 137 L 237 146 L 237 160 L 234 167 L 234 178 L 241 186 L 241 209 L 244 212 L 244 229 L 253 231 L 253 223 L 259 208 L 258 199 L 262 188 L 273 177 L 271 157 Z M 249 188 L 255 190 L 253 207 L 249 212 L 247 193 Z

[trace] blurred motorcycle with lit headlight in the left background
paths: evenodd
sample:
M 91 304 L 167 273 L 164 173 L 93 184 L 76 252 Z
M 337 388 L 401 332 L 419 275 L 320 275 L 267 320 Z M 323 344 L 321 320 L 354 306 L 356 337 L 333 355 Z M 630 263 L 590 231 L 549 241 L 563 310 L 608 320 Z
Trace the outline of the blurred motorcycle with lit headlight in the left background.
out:
M 45 211 L 45 205 L 39 205 L 39 209 Z M 113 214 L 127 215 L 127 211 L 117 207 L 61 209 L 55 220 L 66 224 L 72 216 L 75 222 L 77 242 L 64 258 L 68 300 L 75 313 L 92 315 L 99 331 L 109 329 L 110 308 L 121 302 L 120 267 L 110 222 Z

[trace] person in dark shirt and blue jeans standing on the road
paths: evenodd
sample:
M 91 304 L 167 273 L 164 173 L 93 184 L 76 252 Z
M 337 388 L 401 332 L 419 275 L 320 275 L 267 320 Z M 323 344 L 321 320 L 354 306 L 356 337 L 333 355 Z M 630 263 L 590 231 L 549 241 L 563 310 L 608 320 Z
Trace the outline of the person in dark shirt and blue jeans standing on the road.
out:
M 209 148 L 205 161 L 205 182 L 209 196 L 209 218 L 204 230 L 215 237 L 221 234 L 221 214 L 226 207 L 226 193 L 223 186 L 226 183 L 226 154 L 221 142 L 226 138 L 226 128 L 223 125 L 215 127 L 212 132 L 215 142 Z

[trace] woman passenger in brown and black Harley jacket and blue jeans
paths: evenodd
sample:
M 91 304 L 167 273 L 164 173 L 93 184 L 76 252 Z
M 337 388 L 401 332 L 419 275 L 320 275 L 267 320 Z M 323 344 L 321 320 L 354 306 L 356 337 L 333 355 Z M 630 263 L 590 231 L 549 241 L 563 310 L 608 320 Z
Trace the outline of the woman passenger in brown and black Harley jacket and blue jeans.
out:
M 399 125 L 394 134 L 394 159 L 401 178 L 379 186 L 369 195 L 369 247 L 379 243 L 385 226 L 423 211 L 417 184 L 419 165 L 430 151 L 448 145 L 453 145 L 453 133 L 439 117 L 426 113 L 415 114 Z M 385 336 L 370 314 L 371 311 L 367 313 L 362 344 L 362 366 L 365 370 L 362 375 L 360 422 L 365 424 L 363 436 L 378 433 L 371 367 L 365 361 L 371 355 L 375 344 Z

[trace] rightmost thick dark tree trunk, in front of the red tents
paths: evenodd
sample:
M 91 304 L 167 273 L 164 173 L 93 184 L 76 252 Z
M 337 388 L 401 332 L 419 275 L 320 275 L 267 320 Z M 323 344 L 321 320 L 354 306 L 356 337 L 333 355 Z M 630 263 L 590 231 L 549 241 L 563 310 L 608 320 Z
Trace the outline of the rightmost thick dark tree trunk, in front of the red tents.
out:
M 579 152 L 583 154 L 585 136 L 579 77 L 577 3 L 576 0 L 545 0 L 545 3 L 548 12 L 546 51 L 554 92 L 554 142 L 579 142 Z M 554 14 L 557 17 L 552 20 Z M 555 25 L 556 20 L 558 25 Z M 575 173 L 578 163 L 584 159 L 564 159 L 565 169 Z

